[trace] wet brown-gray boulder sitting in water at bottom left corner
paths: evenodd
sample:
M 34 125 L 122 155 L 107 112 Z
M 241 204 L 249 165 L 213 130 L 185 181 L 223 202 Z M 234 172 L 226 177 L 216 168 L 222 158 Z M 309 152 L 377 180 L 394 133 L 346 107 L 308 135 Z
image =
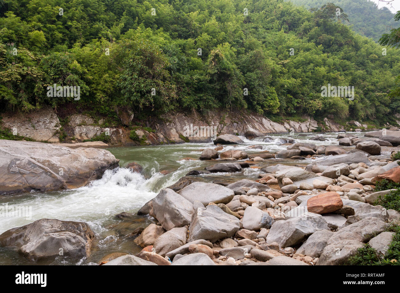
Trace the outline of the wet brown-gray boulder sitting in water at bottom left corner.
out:
M 0 235 L 0 246 L 18 247 L 18 252 L 32 261 L 65 256 L 88 257 L 94 233 L 87 223 L 40 219 Z

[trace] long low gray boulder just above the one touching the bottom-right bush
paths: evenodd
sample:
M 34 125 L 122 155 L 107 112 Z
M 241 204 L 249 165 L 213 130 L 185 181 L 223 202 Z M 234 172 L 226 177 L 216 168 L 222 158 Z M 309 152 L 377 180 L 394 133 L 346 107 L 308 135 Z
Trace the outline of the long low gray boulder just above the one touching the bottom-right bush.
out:
M 344 239 L 366 242 L 371 239 L 374 234 L 383 232 L 387 227 L 388 223 L 385 223 L 379 218 L 369 217 L 362 219 L 361 221 L 348 225 L 340 229 L 338 232 L 335 232 L 328 240 L 328 244 Z

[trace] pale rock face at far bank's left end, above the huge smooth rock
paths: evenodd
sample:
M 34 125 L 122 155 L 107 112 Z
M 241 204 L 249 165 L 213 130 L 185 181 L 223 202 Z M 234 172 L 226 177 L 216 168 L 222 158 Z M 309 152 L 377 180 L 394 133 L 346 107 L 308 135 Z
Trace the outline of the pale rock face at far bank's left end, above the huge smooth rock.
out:
M 38 142 L 58 142 L 60 120 L 52 108 L 42 108 L 29 113 L 3 115 L 2 126 L 16 131 L 19 136 L 26 136 Z

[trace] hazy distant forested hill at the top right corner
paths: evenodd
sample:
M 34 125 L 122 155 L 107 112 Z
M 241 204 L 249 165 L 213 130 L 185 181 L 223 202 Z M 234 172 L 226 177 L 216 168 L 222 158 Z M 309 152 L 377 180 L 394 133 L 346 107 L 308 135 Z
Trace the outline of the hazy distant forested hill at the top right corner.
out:
M 287 0 L 307 9 L 320 8 L 327 3 L 333 3 L 343 9 L 348 16 L 348 24 L 355 32 L 379 41 L 382 34 L 394 26 L 393 16 L 386 3 L 379 6 L 370 0 Z

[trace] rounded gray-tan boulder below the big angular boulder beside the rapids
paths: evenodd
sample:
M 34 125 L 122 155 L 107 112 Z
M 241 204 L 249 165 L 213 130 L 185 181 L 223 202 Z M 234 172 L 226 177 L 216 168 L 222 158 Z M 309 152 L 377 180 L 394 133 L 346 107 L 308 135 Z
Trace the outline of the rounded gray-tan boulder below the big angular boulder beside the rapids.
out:
M 186 244 L 187 234 L 188 229 L 186 227 L 170 229 L 154 242 L 154 251 L 164 257 L 168 252 Z

